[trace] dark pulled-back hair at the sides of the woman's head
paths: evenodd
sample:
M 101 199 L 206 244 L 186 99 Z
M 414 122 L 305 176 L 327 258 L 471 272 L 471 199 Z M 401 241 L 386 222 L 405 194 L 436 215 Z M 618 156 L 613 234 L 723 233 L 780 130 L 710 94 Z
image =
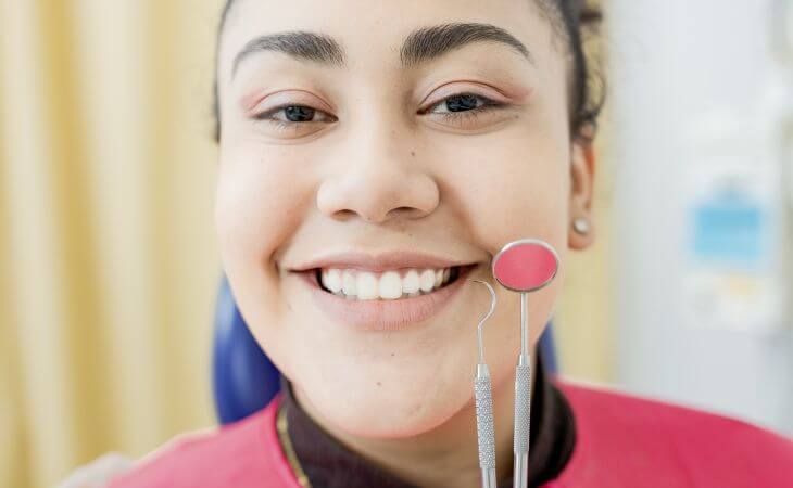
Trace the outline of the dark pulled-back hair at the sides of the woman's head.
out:
M 586 37 L 596 35 L 602 21 L 599 8 L 587 0 L 533 0 L 551 22 L 558 37 L 565 40 L 572 56 L 572 86 L 570 104 L 570 133 L 576 140 L 591 142 L 597 128 L 597 116 L 605 103 L 605 82 L 600 72 L 592 72 L 589 53 L 584 49 Z M 218 39 L 235 0 L 226 0 L 218 27 Z M 218 41 L 219 44 L 219 41 Z M 217 78 L 213 88 L 214 138 L 221 140 L 221 115 Z

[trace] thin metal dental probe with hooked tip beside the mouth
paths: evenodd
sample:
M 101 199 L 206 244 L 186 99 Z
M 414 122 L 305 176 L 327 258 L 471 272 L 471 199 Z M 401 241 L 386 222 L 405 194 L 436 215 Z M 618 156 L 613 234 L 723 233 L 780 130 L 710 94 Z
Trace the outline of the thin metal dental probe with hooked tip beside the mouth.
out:
M 482 488 L 496 488 L 495 476 L 495 428 L 493 426 L 493 396 L 490 388 L 490 372 L 484 363 L 484 342 L 482 326 L 495 310 L 495 291 L 490 283 L 481 280 L 468 280 L 481 283 L 490 291 L 490 310 L 479 320 L 477 336 L 479 342 L 479 363 L 474 377 L 474 397 L 477 412 L 477 440 L 479 441 L 479 467 L 482 471 Z

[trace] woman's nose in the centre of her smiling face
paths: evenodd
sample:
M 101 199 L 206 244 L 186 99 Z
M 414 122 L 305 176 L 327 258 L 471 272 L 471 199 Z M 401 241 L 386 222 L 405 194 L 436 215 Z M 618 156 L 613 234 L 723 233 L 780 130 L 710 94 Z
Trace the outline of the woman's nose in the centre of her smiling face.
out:
M 319 184 L 319 210 L 337 219 L 357 215 L 373 223 L 431 214 L 440 202 L 438 184 L 404 144 L 410 139 L 387 127 L 369 126 L 358 133 Z

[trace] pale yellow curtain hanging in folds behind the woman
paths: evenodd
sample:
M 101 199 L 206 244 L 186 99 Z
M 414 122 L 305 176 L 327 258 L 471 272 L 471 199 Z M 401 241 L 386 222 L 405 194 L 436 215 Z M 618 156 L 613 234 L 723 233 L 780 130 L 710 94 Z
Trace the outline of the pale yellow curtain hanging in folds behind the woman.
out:
M 222 0 L 0 2 L 0 486 L 51 487 L 214 423 Z M 563 367 L 594 380 L 601 231 L 558 314 Z

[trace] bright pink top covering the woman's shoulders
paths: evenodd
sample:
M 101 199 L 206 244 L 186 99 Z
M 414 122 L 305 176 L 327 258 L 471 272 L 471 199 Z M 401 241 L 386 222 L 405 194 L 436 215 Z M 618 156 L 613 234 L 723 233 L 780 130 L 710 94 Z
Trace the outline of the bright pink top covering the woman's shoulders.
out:
M 760 427 L 554 378 L 576 419 L 572 457 L 543 488 L 793 487 L 793 441 Z M 177 441 L 111 488 L 300 488 L 278 441 L 280 397 L 215 434 Z

